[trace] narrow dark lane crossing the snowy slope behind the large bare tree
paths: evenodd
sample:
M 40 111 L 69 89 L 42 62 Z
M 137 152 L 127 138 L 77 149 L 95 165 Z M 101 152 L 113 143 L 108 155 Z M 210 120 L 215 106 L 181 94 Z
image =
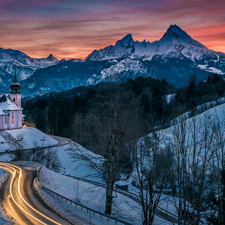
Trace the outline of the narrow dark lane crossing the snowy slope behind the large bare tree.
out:
M 94 185 L 97 185 L 97 186 L 100 186 L 100 187 L 106 187 L 105 184 L 103 183 L 99 183 L 99 182 L 96 182 L 96 181 L 92 181 L 92 180 L 87 180 L 87 179 L 84 179 L 84 178 L 80 178 L 80 177 L 76 177 L 76 176 L 71 176 L 71 175 L 68 175 L 68 174 L 65 174 L 65 176 L 68 176 L 68 177 L 72 177 L 73 179 L 75 180 L 80 180 L 80 181 L 83 181 L 83 182 L 86 182 L 86 183 L 90 183 L 90 184 L 94 184 Z M 140 201 L 138 200 L 138 195 L 134 194 L 134 193 L 131 193 L 131 192 L 126 192 L 126 191 L 123 191 L 123 190 L 120 190 L 118 188 L 115 188 L 116 189 L 116 192 L 122 194 L 122 195 L 125 195 L 126 197 L 134 200 L 135 202 L 139 203 L 140 204 Z M 174 219 L 177 219 L 178 220 L 178 216 L 163 209 L 162 207 L 160 206 L 157 206 L 157 209 L 159 211 L 162 211 L 170 216 L 172 216 Z

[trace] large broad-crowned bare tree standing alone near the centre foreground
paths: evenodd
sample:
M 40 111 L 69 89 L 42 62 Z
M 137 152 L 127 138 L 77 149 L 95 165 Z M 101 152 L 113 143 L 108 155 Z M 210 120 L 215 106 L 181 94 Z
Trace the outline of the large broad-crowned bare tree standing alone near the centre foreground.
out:
M 133 122 L 137 121 L 134 118 L 139 104 L 132 93 L 113 83 L 102 87 L 100 92 L 89 105 L 91 110 L 84 121 L 86 137 L 83 136 L 88 141 L 87 148 L 98 155 L 85 155 L 73 149 L 70 153 L 74 159 L 84 159 L 100 174 L 107 186 L 105 213 L 111 214 L 114 183 L 121 174 L 129 176 L 132 169 L 130 143 L 136 135 Z M 98 107 L 92 107 L 93 104 Z

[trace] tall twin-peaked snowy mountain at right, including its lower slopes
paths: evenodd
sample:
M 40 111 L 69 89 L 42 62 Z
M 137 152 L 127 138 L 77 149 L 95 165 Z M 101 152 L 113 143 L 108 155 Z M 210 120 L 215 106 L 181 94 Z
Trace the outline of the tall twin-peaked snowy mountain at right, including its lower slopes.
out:
M 225 73 L 225 54 L 208 49 L 177 25 L 171 25 L 159 41 L 151 43 L 134 41 L 128 34 L 115 45 L 94 50 L 86 60 L 114 62 L 99 75 L 90 77 L 87 85 L 141 75 L 166 78 L 176 86 L 183 86 L 193 73 L 199 79 L 209 73 Z

